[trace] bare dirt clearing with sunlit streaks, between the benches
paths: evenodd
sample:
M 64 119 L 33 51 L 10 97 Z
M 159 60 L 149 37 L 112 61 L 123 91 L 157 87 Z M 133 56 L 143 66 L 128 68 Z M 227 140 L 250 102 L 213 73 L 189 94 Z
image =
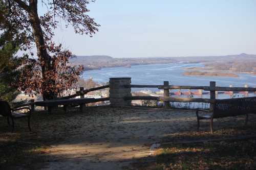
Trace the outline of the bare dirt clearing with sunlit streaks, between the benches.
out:
M 214 128 L 221 131 L 241 127 L 244 118 L 217 119 Z M 15 169 L 129 168 L 137 159 L 152 154 L 152 144 L 172 140 L 177 134 L 194 134 L 197 129 L 194 111 L 110 106 L 88 107 L 83 113 L 34 113 L 32 133 L 28 132 L 25 120 L 17 125 L 14 134 L 9 133 L 2 118 L 0 121 L 0 138 L 48 146 L 35 155 L 32 163 L 17 162 Z M 202 123 L 201 133 L 208 130 L 208 122 Z

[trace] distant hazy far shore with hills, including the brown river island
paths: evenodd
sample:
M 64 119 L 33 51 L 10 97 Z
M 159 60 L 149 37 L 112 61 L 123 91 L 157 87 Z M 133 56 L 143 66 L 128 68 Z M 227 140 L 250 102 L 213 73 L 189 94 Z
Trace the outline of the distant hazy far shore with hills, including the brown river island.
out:
M 185 71 L 206 71 L 196 73 L 197 76 L 228 76 L 223 73 L 232 74 L 250 74 L 256 75 L 256 55 L 237 54 L 227 56 L 195 56 L 195 57 L 147 57 L 147 58 L 113 58 L 111 56 L 77 56 L 72 58 L 70 65 L 83 65 L 84 71 L 100 70 L 102 68 L 114 67 L 132 67 L 135 65 L 155 65 L 155 64 L 172 64 L 172 63 L 202 63 L 204 67 L 187 67 Z M 216 72 L 208 74 L 207 72 Z M 191 74 L 191 73 L 190 73 Z M 188 75 L 188 74 L 186 74 Z M 185 75 L 185 76 L 186 76 Z

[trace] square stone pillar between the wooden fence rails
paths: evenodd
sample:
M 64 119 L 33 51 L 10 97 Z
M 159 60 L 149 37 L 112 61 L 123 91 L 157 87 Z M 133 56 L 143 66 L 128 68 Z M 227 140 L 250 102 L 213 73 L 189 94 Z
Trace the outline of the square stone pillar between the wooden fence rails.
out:
M 131 78 L 110 78 L 110 105 L 131 106 L 131 100 L 124 100 L 124 97 L 131 97 Z

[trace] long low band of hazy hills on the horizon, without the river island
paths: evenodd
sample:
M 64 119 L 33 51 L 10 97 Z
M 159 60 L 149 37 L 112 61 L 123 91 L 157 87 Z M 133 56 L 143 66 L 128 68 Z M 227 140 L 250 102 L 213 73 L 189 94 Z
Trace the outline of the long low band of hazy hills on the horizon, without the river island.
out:
M 186 62 L 186 63 L 204 63 L 205 65 L 221 66 L 222 68 L 245 67 L 252 70 L 253 64 L 256 65 L 256 55 L 241 53 L 238 55 L 226 55 L 226 56 L 191 56 L 191 57 L 141 57 L 141 58 L 113 58 L 106 55 L 94 55 L 94 56 L 77 56 L 70 60 L 72 65 L 83 65 L 84 70 L 101 69 L 104 67 L 117 67 L 125 66 L 131 67 L 132 65 L 147 65 L 147 64 L 167 64 L 174 62 Z M 228 66 L 224 66 L 224 65 Z

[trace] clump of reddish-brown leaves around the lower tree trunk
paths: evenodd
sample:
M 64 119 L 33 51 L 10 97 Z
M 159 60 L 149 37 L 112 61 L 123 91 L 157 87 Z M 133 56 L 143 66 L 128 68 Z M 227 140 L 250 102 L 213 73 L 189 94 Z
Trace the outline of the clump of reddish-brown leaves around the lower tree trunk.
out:
M 74 57 L 71 52 L 62 50 L 61 45 L 55 46 L 54 44 L 48 49 L 52 53 L 51 70 L 48 70 L 45 78 L 42 79 L 41 62 L 27 58 L 23 62 L 24 67 L 18 82 L 20 90 L 56 95 L 77 81 L 82 67 L 68 65 L 69 59 Z

